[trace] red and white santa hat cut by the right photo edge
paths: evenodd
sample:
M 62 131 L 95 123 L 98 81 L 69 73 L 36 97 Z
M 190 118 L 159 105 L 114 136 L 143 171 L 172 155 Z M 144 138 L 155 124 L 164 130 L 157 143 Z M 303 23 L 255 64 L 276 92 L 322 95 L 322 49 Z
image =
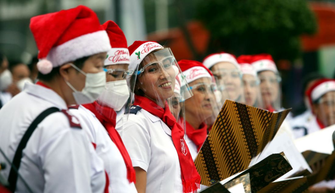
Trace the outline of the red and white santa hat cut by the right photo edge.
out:
M 327 92 L 335 91 L 335 79 L 322 78 L 316 81 L 305 93 L 308 96 L 310 104 L 320 99 Z

